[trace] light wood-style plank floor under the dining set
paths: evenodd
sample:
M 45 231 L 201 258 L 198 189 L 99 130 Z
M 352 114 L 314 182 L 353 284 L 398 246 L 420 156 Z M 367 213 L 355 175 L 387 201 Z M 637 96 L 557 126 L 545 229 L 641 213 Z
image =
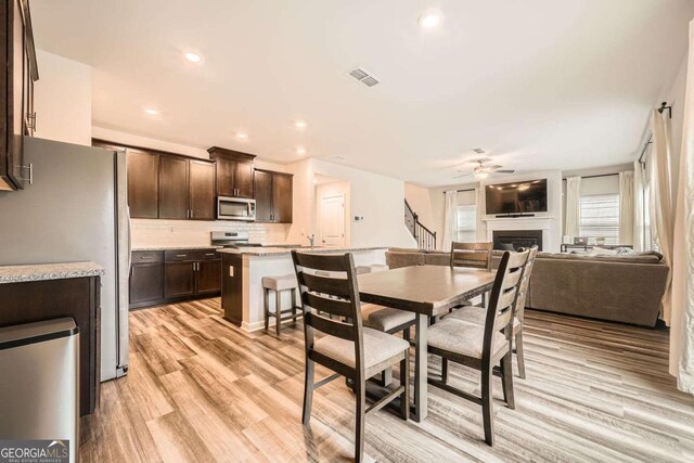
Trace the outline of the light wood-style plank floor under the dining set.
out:
M 526 323 L 528 378 L 516 377 L 516 410 L 494 384 L 493 448 L 477 406 L 429 389 L 421 424 L 385 410 L 367 419 L 367 459 L 694 461 L 694 397 L 667 374 L 666 331 L 542 312 Z M 300 325 L 246 334 L 208 299 L 131 312 L 130 330 L 128 375 L 102 384 L 100 409 L 82 419 L 83 462 L 351 460 L 344 382 L 319 389 L 310 427 L 300 423 Z M 462 366 L 451 381 L 477 387 Z

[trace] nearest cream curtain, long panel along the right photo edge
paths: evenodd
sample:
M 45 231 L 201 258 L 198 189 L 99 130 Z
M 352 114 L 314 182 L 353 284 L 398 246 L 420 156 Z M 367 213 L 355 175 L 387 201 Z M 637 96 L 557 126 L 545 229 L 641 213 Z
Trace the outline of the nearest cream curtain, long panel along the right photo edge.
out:
M 694 21 L 690 23 L 689 72 L 673 232 L 670 374 L 694 394 Z

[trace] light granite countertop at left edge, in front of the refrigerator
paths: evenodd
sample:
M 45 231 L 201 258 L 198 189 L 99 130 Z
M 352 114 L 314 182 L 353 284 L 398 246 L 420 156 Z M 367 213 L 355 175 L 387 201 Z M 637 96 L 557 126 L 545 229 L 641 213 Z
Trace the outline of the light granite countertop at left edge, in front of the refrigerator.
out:
M 0 284 L 41 280 L 64 280 L 102 276 L 105 269 L 97 262 L 35 263 L 30 266 L 0 266 Z

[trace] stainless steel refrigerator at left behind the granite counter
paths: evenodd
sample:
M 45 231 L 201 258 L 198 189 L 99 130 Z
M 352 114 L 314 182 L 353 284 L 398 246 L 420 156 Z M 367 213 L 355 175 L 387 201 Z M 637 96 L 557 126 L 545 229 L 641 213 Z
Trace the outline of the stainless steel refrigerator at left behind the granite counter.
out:
M 101 381 L 128 369 L 130 219 L 125 152 L 26 137 L 33 184 L 0 192 L 0 265 L 93 260 L 101 279 Z

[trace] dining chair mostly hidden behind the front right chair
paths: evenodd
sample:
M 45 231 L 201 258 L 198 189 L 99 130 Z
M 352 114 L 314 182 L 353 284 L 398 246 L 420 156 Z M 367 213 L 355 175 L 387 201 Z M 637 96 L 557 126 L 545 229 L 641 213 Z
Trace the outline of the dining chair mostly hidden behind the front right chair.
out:
M 518 248 L 523 252 L 526 248 Z M 525 300 L 528 295 L 528 285 L 530 283 L 530 276 L 532 275 L 532 266 L 535 265 L 535 258 L 538 255 L 538 246 L 532 246 L 529 249 L 528 260 L 523 267 L 523 276 L 520 276 L 520 286 L 518 288 L 518 297 L 513 307 L 513 338 L 515 342 L 516 362 L 518 363 L 518 376 L 525 380 L 525 353 L 523 348 L 523 320 L 525 316 Z M 447 319 L 462 320 L 471 323 L 484 324 L 487 311 L 484 307 L 473 306 L 465 307 L 464 310 L 458 310 Z

